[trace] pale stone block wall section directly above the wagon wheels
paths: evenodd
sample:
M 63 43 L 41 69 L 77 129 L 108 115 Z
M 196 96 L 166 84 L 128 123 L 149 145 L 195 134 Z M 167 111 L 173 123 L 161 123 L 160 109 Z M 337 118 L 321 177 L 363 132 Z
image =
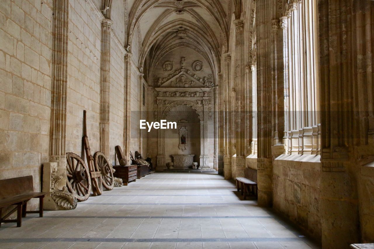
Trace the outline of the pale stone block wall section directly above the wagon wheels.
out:
M 66 152 L 81 155 L 83 110 L 91 151 L 99 150 L 101 21 L 86 1 L 69 1 Z

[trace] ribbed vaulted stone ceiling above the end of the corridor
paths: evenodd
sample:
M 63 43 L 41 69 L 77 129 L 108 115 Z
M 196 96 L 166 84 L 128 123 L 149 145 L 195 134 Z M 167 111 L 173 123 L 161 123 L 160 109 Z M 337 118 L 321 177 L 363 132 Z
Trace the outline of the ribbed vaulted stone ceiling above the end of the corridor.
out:
M 145 74 L 166 52 L 185 46 L 205 57 L 217 75 L 222 48 L 228 43 L 230 0 L 127 0 L 125 4 L 125 47 L 131 52 L 134 37 L 139 36 L 138 66 Z

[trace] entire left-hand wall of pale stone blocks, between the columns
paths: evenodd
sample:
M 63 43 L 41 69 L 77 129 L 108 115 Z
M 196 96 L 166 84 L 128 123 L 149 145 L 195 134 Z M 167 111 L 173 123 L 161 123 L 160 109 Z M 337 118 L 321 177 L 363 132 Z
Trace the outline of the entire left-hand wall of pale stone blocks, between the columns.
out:
M 53 13 L 61 10 L 53 10 L 52 0 L 9 0 L 0 4 L 0 179 L 33 175 L 34 189 L 40 191 L 44 162 L 49 162 L 52 156 L 64 158 L 65 151 L 83 154 L 83 110 L 87 110 L 91 151 L 99 150 L 101 32 L 104 19 L 99 10 L 100 2 L 68 1 L 67 52 L 62 56 L 66 56 L 67 61 L 56 60 L 56 63 L 66 63 L 64 65 L 67 66 L 66 133 L 61 131 L 60 134 L 65 148 L 61 150 L 61 155 L 51 154 L 53 152 L 49 148 L 52 72 L 62 72 L 52 70 L 52 20 Z M 113 6 L 116 7 L 115 4 Z M 123 11 L 117 8 L 113 12 L 114 17 L 120 16 Z M 109 159 L 112 162 L 114 146 L 124 147 L 126 120 L 125 17 L 117 19 L 113 21 L 110 35 Z M 66 24 L 62 26 L 66 27 Z M 62 32 L 62 28 L 56 30 Z M 139 50 L 138 43 L 134 43 L 133 49 Z M 139 87 L 140 72 L 135 63 L 137 56 L 138 52 L 131 62 L 131 104 L 134 111 L 140 111 L 138 100 L 141 100 L 142 89 Z M 63 80 L 62 76 L 58 75 Z M 58 81 L 57 84 L 60 83 Z M 59 92 L 60 97 L 65 97 L 62 92 Z M 56 101 L 55 105 L 63 110 L 63 101 Z M 64 120 L 55 121 L 65 123 Z M 134 125 L 132 130 L 138 131 L 137 126 Z M 139 141 L 137 139 L 133 143 L 134 149 L 138 150 Z M 29 208 L 35 208 L 36 202 L 32 201 Z

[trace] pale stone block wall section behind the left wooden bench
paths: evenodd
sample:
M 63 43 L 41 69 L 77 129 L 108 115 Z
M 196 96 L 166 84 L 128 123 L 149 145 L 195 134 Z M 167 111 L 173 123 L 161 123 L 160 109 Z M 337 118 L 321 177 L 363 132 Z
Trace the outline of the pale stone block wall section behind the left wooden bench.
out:
M 52 5 L 0 4 L 0 179 L 32 175 L 35 191 L 49 153 Z

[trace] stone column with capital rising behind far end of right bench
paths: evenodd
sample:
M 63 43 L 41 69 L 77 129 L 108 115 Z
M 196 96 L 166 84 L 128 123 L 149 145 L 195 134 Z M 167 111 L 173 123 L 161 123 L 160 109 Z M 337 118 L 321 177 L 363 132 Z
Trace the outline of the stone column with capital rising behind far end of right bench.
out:
M 234 177 L 244 177 L 245 168 L 245 60 L 244 60 L 244 24 L 236 19 L 235 25 L 235 68 L 236 75 L 236 170 Z

